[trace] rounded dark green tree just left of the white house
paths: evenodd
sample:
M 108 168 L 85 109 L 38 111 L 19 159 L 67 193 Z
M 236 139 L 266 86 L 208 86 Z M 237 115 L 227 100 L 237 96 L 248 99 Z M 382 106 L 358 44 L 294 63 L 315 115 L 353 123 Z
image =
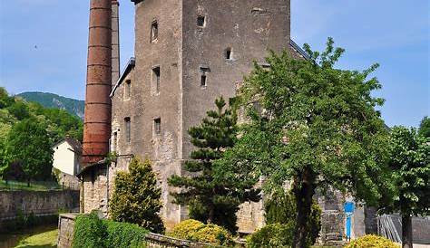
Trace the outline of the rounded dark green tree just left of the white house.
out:
M 48 179 L 53 168 L 53 149 L 44 126 L 35 119 L 17 122 L 5 145 L 8 163 L 20 163 L 28 184 L 32 179 Z

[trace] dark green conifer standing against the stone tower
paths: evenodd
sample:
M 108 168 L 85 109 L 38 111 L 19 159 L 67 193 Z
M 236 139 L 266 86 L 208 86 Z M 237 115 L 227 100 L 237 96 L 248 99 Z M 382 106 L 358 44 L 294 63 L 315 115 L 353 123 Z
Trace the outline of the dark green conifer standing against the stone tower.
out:
M 192 219 L 218 224 L 235 233 L 239 205 L 257 200 L 259 192 L 252 189 L 255 180 L 233 178 L 232 170 L 217 171 L 215 162 L 237 139 L 237 120 L 236 115 L 225 108 L 227 104 L 222 97 L 215 100 L 215 104 L 217 109 L 209 110 L 200 126 L 189 130 L 191 143 L 198 148 L 185 163 L 189 175 L 171 176 L 169 184 L 181 187 L 181 192 L 173 196 L 177 204 L 189 206 Z

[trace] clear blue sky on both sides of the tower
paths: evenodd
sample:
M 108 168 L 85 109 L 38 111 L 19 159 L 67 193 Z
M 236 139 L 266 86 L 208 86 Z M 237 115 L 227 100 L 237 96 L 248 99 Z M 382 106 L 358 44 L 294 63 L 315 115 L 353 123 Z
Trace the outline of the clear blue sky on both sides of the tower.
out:
M 133 5 L 121 2 L 122 65 L 133 54 Z M 0 86 L 84 98 L 88 4 L 83 0 L 0 0 Z M 427 0 L 291 0 L 291 37 L 347 50 L 338 63 L 381 64 L 376 95 L 388 126 L 417 126 L 430 115 L 430 9 Z

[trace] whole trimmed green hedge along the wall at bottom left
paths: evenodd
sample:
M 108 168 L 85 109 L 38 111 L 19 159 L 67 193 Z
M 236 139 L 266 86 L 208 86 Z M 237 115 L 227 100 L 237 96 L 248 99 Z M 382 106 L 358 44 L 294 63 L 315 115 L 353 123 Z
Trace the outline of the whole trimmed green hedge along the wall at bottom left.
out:
M 79 215 L 74 224 L 73 248 L 145 247 L 148 233 L 137 224 L 101 220 L 94 213 Z

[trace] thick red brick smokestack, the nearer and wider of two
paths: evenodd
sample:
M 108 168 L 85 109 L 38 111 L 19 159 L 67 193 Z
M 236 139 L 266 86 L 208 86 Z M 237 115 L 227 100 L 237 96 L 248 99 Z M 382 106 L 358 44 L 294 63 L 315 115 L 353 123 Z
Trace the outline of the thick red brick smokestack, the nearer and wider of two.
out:
M 91 0 L 83 166 L 102 160 L 111 137 L 112 0 Z

